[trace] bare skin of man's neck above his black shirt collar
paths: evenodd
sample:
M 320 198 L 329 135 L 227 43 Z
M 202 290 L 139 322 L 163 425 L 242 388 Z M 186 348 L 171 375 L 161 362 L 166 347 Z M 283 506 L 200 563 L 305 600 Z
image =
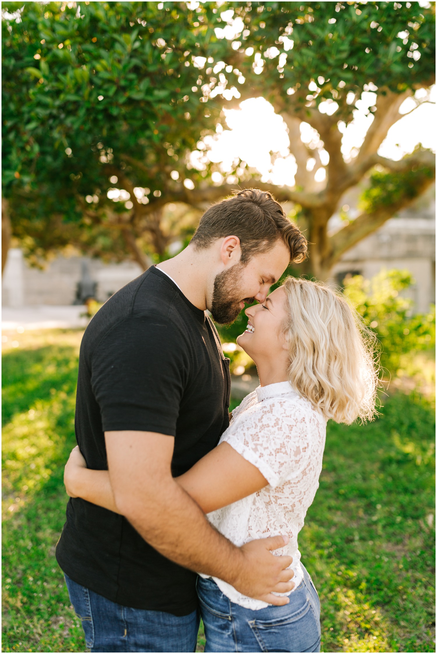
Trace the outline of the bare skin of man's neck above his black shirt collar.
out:
M 203 258 L 194 253 L 192 246 L 188 245 L 177 256 L 163 261 L 156 267 L 175 281 L 187 300 L 201 311 L 205 311 L 207 273 Z

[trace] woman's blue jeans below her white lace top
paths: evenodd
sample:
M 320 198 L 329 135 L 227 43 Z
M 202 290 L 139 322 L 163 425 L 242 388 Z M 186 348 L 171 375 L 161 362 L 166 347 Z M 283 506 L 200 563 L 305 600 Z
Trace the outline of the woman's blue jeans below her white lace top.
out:
M 258 611 L 234 604 L 213 579 L 198 577 L 205 652 L 319 652 L 319 597 L 302 568 L 304 579 L 289 595 L 289 604 Z

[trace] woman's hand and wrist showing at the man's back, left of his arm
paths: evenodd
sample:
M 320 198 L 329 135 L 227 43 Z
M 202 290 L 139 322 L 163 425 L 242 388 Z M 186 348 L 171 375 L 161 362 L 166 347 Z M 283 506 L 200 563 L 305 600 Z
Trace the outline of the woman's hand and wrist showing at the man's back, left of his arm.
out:
M 70 497 L 80 497 L 109 511 L 120 513 L 115 504 L 109 472 L 89 470 L 79 445 L 71 451 L 63 473 L 63 483 Z

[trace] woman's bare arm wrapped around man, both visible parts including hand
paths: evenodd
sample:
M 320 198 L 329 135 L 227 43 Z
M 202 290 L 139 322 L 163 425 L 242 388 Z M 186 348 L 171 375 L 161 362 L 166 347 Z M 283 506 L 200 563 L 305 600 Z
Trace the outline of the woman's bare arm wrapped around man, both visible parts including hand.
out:
M 109 472 L 88 470 L 78 446 L 71 452 L 63 479 L 70 497 L 81 497 L 120 513 L 114 501 Z M 203 513 L 232 504 L 268 485 L 258 468 L 228 443 L 220 443 L 176 481 L 197 502 Z

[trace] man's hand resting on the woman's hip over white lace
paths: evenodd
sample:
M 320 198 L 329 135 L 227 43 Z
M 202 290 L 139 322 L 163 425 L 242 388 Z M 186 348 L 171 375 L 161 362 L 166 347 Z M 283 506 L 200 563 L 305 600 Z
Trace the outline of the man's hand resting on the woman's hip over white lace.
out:
M 292 557 L 279 557 L 272 554 L 273 550 L 284 547 L 287 542 L 287 536 L 272 536 L 252 540 L 240 548 L 243 565 L 232 584 L 239 593 L 275 606 L 288 604 L 290 601 L 288 597 L 272 594 L 272 591 L 288 593 L 294 588 L 294 582 L 290 581 L 294 572 L 286 569 L 292 564 Z

